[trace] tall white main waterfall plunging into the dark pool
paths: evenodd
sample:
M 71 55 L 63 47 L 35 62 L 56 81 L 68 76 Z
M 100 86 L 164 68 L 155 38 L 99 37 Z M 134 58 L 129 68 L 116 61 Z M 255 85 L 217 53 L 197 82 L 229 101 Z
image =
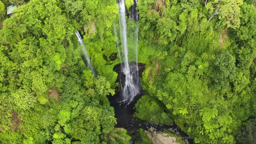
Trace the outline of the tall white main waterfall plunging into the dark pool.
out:
M 137 0 L 136 0 L 137 2 Z M 140 82 L 138 77 L 138 25 L 134 36 L 136 37 L 136 65 L 129 64 L 128 57 L 128 41 L 127 41 L 127 30 L 126 30 L 126 7 L 124 0 L 118 2 L 119 9 L 119 26 L 120 26 L 120 37 L 122 41 L 122 50 L 118 50 L 124 55 L 122 64 L 122 73 L 125 75 L 124 82 L 121 82 L 122 96 L 124 102 L 131 102 L 140 92 Z M 136 14 L 137 15 L 137 14 Z M 115 32 L 116 33 L 116 32 Z M 122 59 L 121 63 L 122 63 Z

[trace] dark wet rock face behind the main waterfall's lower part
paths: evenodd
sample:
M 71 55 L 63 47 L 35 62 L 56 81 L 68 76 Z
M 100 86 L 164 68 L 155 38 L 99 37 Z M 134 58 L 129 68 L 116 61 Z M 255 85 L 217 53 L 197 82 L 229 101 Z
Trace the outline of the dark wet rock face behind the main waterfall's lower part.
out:
M 125 79 L 125 75 L 122 72 L 122 65 L 124 65 L 124 64 L 123 63 L 122 64 L 117 64 L 113 68 L 113 70 L 118 74 L 116 82 L 119 82 L 119 83 L 120 83 L 121 80 Z M 130 67 L 130 69 L 136 68 L 136 62 L 130 62 L 129 67 Z M 139 75 L 139 77 L 142 76 L 142 72 L 144 70 L 145 70 L 145 64 L 138 63 L 138 75 Z

